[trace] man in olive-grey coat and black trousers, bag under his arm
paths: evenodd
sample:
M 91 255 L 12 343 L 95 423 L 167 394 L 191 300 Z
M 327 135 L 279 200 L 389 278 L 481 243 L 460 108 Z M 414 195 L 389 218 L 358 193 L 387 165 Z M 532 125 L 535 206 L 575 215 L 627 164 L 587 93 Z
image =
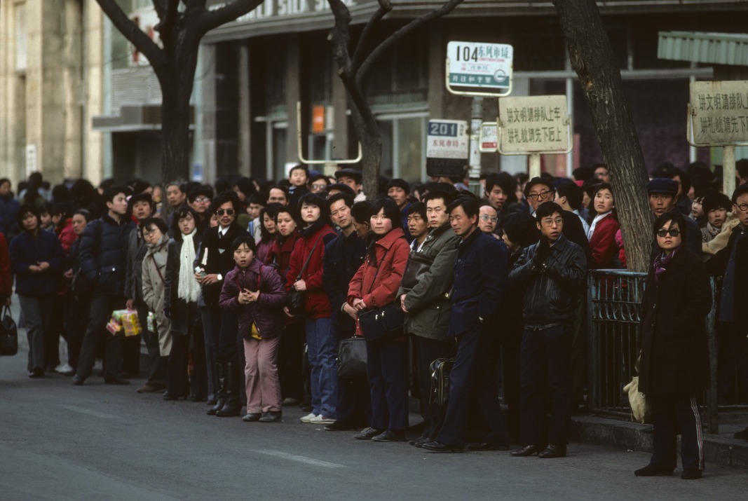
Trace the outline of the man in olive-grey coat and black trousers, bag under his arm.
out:
M 411 442 L 420 447 L 431 441 L 438 425 L 439 408 L 429 402 L 431 370 L 437 358 L 449 356 L 454 340 L 447 340 L 450 326 L 450 289 L 454 279 L 455 256 L 459 237 L 450 227 L 447 205 L 452 201 L 444 191 L 432 191 L 424 197 L 426 218 L 431 231 L 420 254 L 432 259 L 429 270 L 411 289 L 400 286 L 397 293 L 405 316 L 405 332 L 413 337 L 418 389 L 426 419 L 423 436 Z

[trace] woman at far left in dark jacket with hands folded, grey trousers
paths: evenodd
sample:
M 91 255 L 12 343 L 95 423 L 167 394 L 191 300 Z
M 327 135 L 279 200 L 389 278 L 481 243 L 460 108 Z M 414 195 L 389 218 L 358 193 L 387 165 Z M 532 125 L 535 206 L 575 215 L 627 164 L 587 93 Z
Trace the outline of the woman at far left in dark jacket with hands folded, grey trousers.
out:
M 26 320 L 28 377 L 44 375 L 44 336 L 49 329 L 64 251 L 55 233 L 42 231 L 39 210 L 24 205 L 16 215 L 22 233 L 10 242 L 10 268 Z

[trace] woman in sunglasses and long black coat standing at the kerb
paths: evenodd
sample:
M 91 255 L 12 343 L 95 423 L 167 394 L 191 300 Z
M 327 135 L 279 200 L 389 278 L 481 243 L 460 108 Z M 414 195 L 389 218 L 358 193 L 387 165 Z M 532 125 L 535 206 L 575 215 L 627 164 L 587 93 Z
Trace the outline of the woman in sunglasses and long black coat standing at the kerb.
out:
M 705 319 L 711 287 L 702 260 L 682 245 L 686 221 L 680 212 L 660 215 L 653 230 L 657 250 L 642 302 L 639 390 L 649 403 L 654 450 L 649 465 L 634 475 L 672 475 L 680 433 L 681 479 L 699 479 L 704 449 L 696 393 L 709 387 Z

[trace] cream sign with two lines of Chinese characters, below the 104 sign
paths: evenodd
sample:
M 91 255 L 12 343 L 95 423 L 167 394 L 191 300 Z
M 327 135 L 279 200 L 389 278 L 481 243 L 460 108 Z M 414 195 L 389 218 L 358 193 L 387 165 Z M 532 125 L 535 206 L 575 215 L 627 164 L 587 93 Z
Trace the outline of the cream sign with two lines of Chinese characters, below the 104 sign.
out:
M 568 150 L 566 96 L 504 97 L 499 101 L 501 153 Z

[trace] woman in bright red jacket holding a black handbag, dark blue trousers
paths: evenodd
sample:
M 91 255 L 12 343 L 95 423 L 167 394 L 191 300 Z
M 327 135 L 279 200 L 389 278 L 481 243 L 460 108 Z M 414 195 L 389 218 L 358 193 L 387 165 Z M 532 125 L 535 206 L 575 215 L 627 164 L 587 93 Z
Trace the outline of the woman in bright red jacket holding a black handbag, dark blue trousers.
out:
M 410 251 L 394 200 L 374 200 L 370 221 L 369 253 L 348 290 L 348 302 L 359 315 L 395 301 Z M 359 322 L 356 322 L 356 334 L 363 334 Z M 405 428 L 408 427 L 408 350 L 402 331 L 373 342 L 367 340 L 367 377 L 372 397 L 372 423 L 355 438 L 377 442 L 405 440 Z

